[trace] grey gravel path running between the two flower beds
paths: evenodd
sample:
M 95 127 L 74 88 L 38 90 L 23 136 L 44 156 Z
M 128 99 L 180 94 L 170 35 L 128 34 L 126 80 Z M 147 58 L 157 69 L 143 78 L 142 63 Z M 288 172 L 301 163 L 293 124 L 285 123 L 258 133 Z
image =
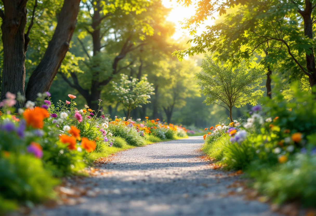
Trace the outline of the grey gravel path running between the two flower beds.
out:
M 227 196 L 239 177 L 212 170 L 199 156 L 202 136 L 118 153 L 85 179 L 100 193 L 74 206 L 41 210 L 46 216 L 265 216 L 268 204 Z

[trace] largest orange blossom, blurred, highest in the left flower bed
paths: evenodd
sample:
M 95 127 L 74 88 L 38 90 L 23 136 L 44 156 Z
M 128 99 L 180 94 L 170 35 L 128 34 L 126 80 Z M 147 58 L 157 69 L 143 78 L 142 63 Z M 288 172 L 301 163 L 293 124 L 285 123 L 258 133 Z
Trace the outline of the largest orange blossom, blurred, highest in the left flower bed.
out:
M 44 126 L 44 118 L 49 117 L 49 113 L 46 109 L 41 107 L 35 107 L 34 109 L 26 109 L 23 112 L 23 117 L 27 123 L 27 126 L 31 125 L 33 128 L 42 129 Z

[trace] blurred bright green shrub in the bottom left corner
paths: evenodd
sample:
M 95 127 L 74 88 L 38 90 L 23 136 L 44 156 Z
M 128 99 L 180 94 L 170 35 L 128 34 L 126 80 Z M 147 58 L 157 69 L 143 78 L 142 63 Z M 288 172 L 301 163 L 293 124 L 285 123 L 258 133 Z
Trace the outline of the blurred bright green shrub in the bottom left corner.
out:
M 59 181 L 43 168 L 40 159 L 9 153 L 0 158 L 0 191 L 4 199 L 40 202 L 54 196 Z M 11 203 L 12 207 L 12 203 Z

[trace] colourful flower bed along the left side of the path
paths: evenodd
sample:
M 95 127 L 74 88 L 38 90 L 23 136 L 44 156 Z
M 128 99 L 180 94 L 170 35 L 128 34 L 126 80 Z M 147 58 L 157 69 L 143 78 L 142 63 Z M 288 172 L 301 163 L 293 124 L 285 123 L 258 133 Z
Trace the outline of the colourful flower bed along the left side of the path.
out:
M 18 113 L 13 106 L 24 103 L 22 96 L 7 93 L 0 103 L 0 213 L 54 199 L 60 177 L 85 174 L 84 168 L 98 157 L 186 136 L 184 128 L 159 119 L 112 121 L 100 109 L 77 109 L 74 95 L 57 105 L 50 96 L 39 93 Z

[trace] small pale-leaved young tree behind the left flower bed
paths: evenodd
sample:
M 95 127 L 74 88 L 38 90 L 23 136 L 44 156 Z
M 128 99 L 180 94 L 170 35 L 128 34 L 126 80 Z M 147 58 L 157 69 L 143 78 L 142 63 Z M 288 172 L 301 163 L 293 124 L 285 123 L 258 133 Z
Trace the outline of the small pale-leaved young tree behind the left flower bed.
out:
M 140 80 L 136 78 L 128 79 L 127 75 L 121 74 L 119 83 L 113 82 L 113 91 L 111 92 L 117 100 L 127 110 L 127 119 L 130 118 L 130 112 L 136 107 L 142 107 L 142 104 L 150 103 L 150 95 L 155 94 L 153 84 L 147 81 L 144 75 Z

